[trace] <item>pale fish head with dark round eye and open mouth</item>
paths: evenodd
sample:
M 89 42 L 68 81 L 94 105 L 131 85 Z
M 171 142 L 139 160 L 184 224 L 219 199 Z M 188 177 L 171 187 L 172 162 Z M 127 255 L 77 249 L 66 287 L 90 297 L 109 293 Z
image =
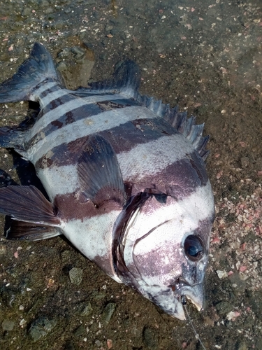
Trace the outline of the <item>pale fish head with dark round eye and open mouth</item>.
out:
M 150 195 L 133 210 L 124 229 L 116 264 L 119 278 L 181 320 L 184 297 L 201 310 L 213 221 L 210 188 L 181 201 Z

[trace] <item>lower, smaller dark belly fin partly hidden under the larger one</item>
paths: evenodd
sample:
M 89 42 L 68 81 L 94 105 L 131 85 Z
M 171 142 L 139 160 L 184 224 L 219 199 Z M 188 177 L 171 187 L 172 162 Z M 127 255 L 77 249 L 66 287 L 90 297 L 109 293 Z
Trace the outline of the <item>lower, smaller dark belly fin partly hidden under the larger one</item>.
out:
M 39 241 L 59 235 L 61 232 L 57 228 L 15 220 L 11 220 L 10 228 L 6 231 L 6 239 L 27 239 L 29 241 Z

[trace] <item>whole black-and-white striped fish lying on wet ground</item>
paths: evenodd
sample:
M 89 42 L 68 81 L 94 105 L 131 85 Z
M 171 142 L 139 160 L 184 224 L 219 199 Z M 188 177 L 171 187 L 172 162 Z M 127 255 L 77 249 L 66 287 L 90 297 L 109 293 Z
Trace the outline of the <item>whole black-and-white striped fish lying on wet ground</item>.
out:
M 68 90 L 50 52 L 29 58 L 0 85 L 0 102 L 39 105 L 28 127 L 1 127 L 0 146 L 31 162 L 33 185 L 0 189 L 7 239 L 64 235 L 118 283 L 185 319 L 183 300 L 205 299 L 214 197 L 208 136 L 196 118 L 141 95 L 127 59 L 110 78 Z

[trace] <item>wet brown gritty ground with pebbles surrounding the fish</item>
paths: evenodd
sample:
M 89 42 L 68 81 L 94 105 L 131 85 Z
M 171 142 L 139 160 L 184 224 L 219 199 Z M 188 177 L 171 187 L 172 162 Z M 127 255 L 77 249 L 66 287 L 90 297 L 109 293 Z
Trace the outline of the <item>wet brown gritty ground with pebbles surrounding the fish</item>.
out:
M 143 71 L 140 92 L 205 122 L 217 219 L 205 311 L 189 313 L 206 349 L 262 349 L 261 1 L 2 1 L 1 80 L 35 41 L 68 87 L 105 78 L 129 57 Z M 26 102 L 4 104 L 0 126 L 27 113 Z M 31 172 L 17 164 L 0 150 L 15 181 L 18 170 Z M 64 239 L 2 238 L 0 264 L 0 349 L 201 349 L 187 322 L 112 281 Z

